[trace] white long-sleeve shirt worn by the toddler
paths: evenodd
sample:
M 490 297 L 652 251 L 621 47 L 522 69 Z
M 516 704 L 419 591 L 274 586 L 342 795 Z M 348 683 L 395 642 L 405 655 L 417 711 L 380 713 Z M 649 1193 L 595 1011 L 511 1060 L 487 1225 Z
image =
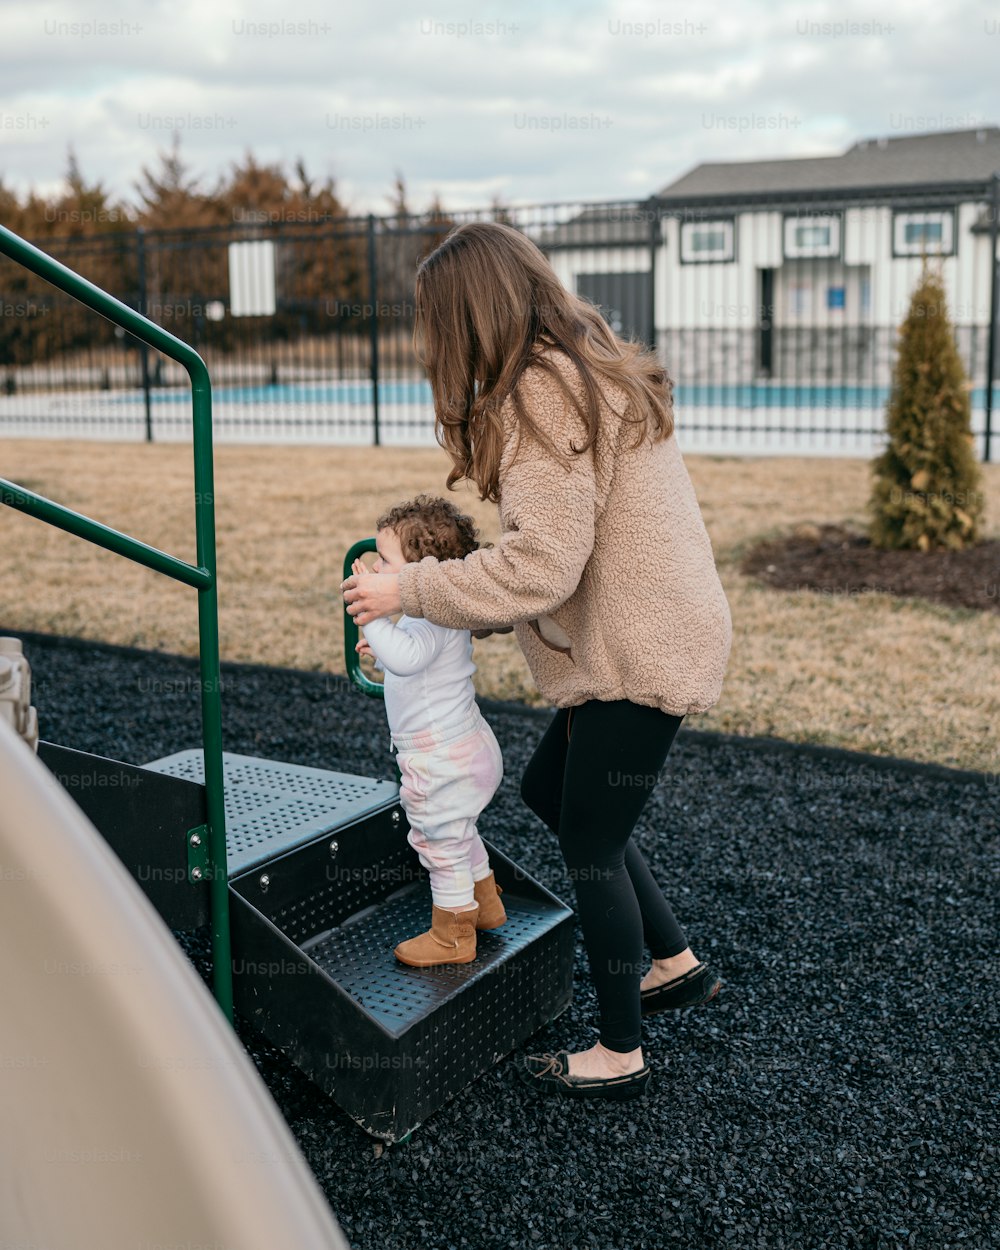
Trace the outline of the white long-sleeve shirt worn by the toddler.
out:
M 392 734 L 449 730 L 476 705 L 472 638 L 468 629 L 448 629 L 414 616 L 392 624 L 380 616 L 362 626 L 385 674 L 385 715 Z

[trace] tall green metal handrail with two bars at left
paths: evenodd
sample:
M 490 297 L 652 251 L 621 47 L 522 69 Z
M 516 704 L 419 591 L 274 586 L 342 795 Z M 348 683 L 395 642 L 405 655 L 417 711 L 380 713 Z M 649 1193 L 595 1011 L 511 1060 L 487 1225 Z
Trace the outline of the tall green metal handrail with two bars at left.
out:
M 211 381 L 205 361 L 194 348 L 162 326 L 116 300 L 39 248 L 0 226 L 0 252 L 65 291 L 142 342 L 176 360 L 191 380 L 195 461 L 196 565 L 120 534 L 100 521 L 35 495 L 15 482 L 0 480 L 0 501 L 39 520 L 115 551 L 198 590 L 199 666 L 201 675 L 201 738 L 205 755 L 208 808 L 208 875 L 211 908 L 212 989 L 232 1022 L 232 954 L 229 922 L 225 789 L 222 780 L 222 712 L 219 678 L 219 592 L 215 568 L 215 488 L 211 445 Z

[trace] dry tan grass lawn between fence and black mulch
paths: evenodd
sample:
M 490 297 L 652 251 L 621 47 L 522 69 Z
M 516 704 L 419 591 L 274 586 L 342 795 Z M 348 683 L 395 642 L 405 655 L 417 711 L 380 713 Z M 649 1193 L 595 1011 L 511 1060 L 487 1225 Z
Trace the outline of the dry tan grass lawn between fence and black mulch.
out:
M 194 559 L 186 446 L 0 442 L 0 475 Z M 688 724 L 998 771 L 998 628 L 991 614 L 886 595 L 755 585 L 745 545 L 800 521 L 864 525 L 862 460 L 688 460 L 735 638 L 722 698 Z M 439 449 L 216 451 L 222 656 L 342 671 L 338 584 L 348 546 L 392 500 L 444 494 Z M 984 471 L 989 534 L 1000 466 Z M 496 510 L 452 496 L 499 535 Z M 195 592 L 30 518 L 0 510 L 0 626 L 194 654 Z M 476 642 L 480 694 L 540 702 L 511 635 Z

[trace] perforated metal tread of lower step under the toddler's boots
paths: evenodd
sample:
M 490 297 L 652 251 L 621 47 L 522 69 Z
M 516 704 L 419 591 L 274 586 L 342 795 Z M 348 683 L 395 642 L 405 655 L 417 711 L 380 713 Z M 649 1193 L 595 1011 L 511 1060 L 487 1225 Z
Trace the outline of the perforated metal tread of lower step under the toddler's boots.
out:
M 476 958 L 470 964 L 409 968 L 392 954 L 399 942 L 430 926 L 428 881 L 385 899 L 301 949 L 386 1032 L 399 1038 L 480 978 L 494 976 L 499 989 L 501 965 L 561 919 L 551 904 L 510 891 L 504 892 L 504 909 L 506 924 L 476 934 Z

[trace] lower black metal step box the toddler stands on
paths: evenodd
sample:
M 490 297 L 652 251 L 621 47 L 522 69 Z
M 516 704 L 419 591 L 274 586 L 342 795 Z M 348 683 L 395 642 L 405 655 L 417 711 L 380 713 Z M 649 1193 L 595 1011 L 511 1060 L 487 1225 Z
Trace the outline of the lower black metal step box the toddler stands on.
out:
M 366 1132 L 398 1141 L 572 1000 L 572 911 L 486 842 L 508 922 L 470 964 L 409 968 L 430 925 L 405 820 L 382 812 L 230 884 L 240 1014 Z

